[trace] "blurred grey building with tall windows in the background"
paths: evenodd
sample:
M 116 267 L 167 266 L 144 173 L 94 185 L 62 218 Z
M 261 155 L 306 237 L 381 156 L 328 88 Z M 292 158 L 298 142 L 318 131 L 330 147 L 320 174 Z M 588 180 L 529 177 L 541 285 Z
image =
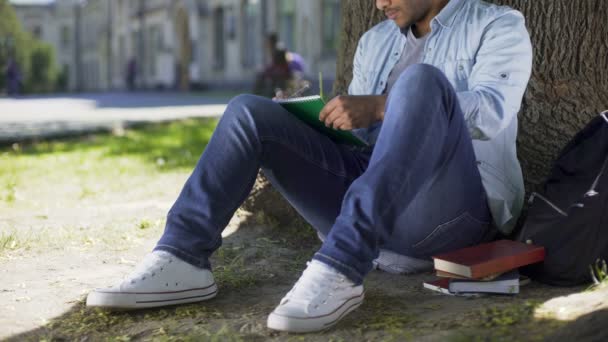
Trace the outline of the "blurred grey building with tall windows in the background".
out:
M 196 89 L 249 84 L 277 32 L 316 80 L 335 75 L 340 0 L 13 1 L 24 27 L 55 46 L 71 90 Z

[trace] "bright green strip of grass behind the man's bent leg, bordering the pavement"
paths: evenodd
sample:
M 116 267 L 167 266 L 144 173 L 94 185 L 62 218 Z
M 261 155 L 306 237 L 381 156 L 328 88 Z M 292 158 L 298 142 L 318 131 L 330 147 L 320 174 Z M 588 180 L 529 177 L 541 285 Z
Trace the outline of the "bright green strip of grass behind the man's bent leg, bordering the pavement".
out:
M 36 157 L 48 158 L 45 161 L 59 161 L 64 168 L 78 166 L 94 158 L 110 159 L 124 162 L 124 157 L 135 158 L 146 162 L 157 170 L 166 171 L 175 168 L 191 169 L 198 160 L 201 152 L 209 142 L 217 119 L 190 119 L 165 124 L 150 124 L 139 129 L 128 129 L 122 136 L 111 134 L 96 134 L 86 138 L 73 138 L 58 141 L 46 141 L 27 144 L 18 148 L 0 150 L 3 159 Z M 17 162 L 20 160 L 17 159 Z M 65 163 L 67 162 L 67 164 Z M 29 164 L 17 163 L 0 164 L 0 174 L 5 172 L 22 171 Z M 50 169 L 53 165 L 48 165 Z M 92 166 L 91 170 L 94 170 Z M 119 168 L 130 171 L 129 166 Z M 87 171 L 91 171 L 87 170 Z

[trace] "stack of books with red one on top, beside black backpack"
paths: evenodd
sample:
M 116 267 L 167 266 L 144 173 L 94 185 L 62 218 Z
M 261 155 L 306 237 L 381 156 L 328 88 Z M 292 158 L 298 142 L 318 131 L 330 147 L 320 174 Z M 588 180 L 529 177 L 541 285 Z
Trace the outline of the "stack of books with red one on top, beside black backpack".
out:
M 433 257 L 437 280 L 424 287 L 449 295 L 516 294 L 523 285 L 518 268 L 545 258 L 541 246 L 498 240 Z M 527 280 L 526 280 L 527 281 Z

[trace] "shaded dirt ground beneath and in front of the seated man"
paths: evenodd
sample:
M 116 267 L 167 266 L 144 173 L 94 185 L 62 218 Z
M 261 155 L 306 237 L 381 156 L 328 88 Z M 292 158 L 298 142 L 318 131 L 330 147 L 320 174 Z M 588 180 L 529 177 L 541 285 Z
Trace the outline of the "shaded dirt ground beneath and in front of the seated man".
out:
M 258 217 L 258 225 L 241 226 L 224 239 L 212 259 L 220 292 L 208 302 L 111 313 L 88 310 L 81 298 L 46 326 L 8 341 L 543 340 L 560 327 L 558 332 L 567 334 L 569 325 L 535 319 L 534 308 L 581 290 L 533 283 L 518 296 L 466 299 L 424 290 L 422 282 L 434 277 L 430 273 L 400 276 L 373 271 L 365 282 L 364 304 L 337 326 L 316 334 L 277 333 L 266 328 L 266 317 L 320 245 L 310 226 L 273 226 L 265 220 Z M 605 321 L 605 313 L 597 315 Z M 589 322 L 599 328 L 595 317 Z M 577 328 L 576 336 L 586 336 L 583 328 Z

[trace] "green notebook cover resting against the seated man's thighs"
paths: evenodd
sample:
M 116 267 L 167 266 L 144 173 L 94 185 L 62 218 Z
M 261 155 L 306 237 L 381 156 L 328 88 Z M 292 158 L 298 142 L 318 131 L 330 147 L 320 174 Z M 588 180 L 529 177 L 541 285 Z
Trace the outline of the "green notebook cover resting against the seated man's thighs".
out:
M 337 143 L 367 146 L 365 141 L 357 138 L 350 131 L 329 128 L 319 120 L 319 113 L 325 106 L 325 101 L 318 95 L 291 99 L 277 99 L 275 101 L 302 122 L 325 134 Z

